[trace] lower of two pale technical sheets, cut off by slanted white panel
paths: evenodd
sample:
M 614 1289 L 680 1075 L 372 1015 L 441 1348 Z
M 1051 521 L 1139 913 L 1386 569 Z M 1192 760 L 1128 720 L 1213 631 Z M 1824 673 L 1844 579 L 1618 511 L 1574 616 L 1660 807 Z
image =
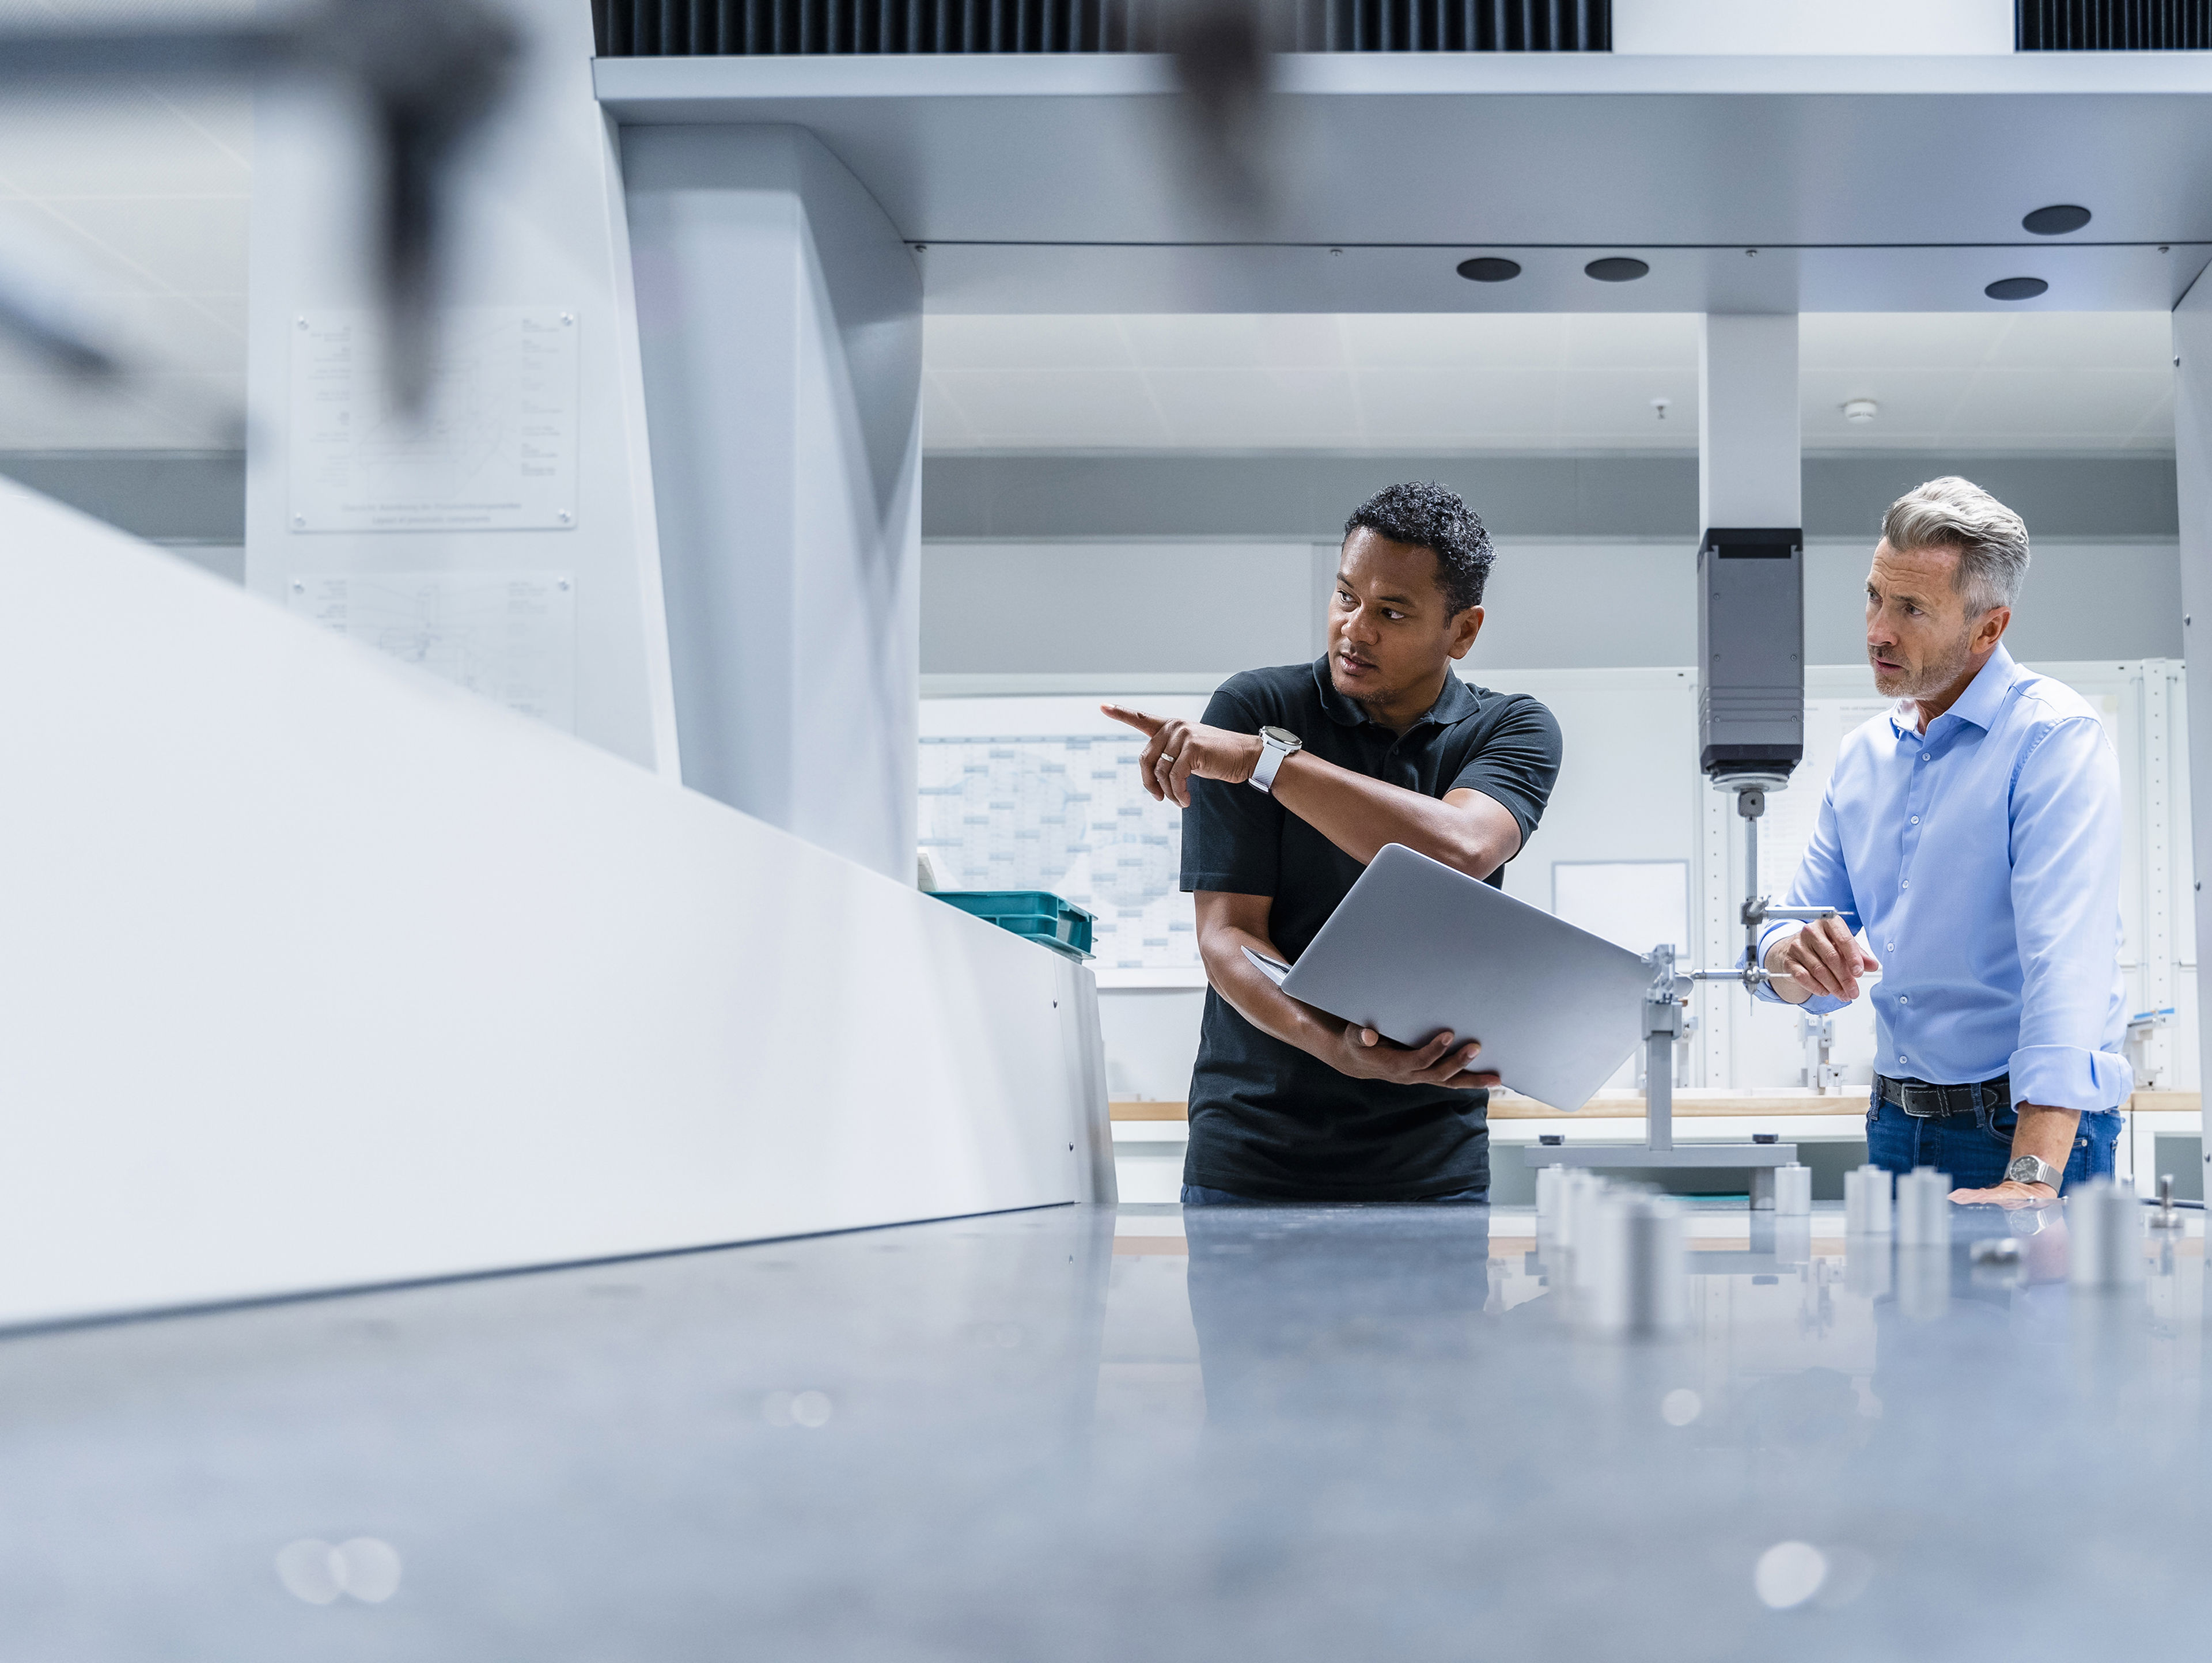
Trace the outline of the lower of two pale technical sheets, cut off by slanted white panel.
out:
M 292 613 L 522 717 L 575 732 L 575 582 L 566 573 L 301 573 Z

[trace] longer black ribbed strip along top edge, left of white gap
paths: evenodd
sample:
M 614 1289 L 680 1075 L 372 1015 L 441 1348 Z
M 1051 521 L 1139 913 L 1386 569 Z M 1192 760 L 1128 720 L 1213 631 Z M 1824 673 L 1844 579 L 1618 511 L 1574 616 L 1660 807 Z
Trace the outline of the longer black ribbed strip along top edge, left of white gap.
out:
M 1168 49 L 1172 11 L 1175 0 L 593 0 L 602 57 L 1148 53 Z M 1272 18 L 1281 51 L 1613 51 L 1613 0 L 1290 0 Z

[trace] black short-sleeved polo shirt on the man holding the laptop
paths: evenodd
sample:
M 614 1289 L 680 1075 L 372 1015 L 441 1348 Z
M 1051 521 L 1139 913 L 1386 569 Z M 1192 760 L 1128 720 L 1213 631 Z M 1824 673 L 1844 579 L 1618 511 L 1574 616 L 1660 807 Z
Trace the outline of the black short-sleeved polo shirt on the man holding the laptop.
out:
M 1559 778 L 1553 714 L 1458 677 L 1405 734 L 1336 692 L 1327 657 L 1230 677 L 1206 723 L 1239 734 L 1287 728 L 1327 763 L 1436 798 L 1482 792 L 1520 820 L 1524 847 Z M 1265 792 L 1190 781 L 1183 889 L 1272 896 L 1267 933 L 1285 960 L 1296 962 L 1360 871 Z M 1489 1146 L 1489 1092 L 1340 1075 L 1206 991 L 1183 1183 L 1281 1201 L 1420 1201 L 1486 1185 Z

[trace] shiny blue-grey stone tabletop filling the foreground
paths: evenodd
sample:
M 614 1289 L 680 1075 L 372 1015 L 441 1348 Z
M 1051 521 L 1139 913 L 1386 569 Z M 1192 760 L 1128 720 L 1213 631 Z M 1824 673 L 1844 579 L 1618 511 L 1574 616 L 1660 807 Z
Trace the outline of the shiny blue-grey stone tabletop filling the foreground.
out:
M 2059 1227 L 1975 1265 L 2022 1221 L 1840 1225 L 1692 1214 L 1666 1342 L 1586 1333 L 1482 1207 L 1060 1207 L 15 1336 L 0 1654 L 2188 1645 L 2201 1223 L 2126 1294 Z

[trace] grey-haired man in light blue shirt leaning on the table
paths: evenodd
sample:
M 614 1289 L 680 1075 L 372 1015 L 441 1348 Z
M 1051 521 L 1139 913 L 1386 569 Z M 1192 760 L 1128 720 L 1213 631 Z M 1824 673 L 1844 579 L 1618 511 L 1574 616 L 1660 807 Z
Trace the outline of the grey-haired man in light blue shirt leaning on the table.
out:
M 1767 997 L 1814 1013 L 1882 971 L 1869 1159 L 2000 1205 L 2110 1174 L 2135 1090 L 2119 759 L 2073 688 L 2004 650 L 2026 568 L 2020 515 L 1966 480 L 1891 504 L 1867 657 L 1898 705 L 1843 741 L 1790 885 L 1843 918 L 1761 940 Z

